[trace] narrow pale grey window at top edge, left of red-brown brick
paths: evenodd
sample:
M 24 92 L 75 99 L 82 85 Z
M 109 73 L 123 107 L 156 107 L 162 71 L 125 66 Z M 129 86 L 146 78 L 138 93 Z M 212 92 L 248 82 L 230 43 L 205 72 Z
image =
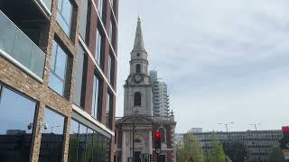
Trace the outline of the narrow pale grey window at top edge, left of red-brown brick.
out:
M 82 0 L 81 1 L 81 11 L 80 11 L 80 20 L 79 20 L 79 34 L 83 40 L 86 39 L 86 32 L 87 32 L 87 21 L 88 21 L 88 8 L 89 8 L 89 1 Z

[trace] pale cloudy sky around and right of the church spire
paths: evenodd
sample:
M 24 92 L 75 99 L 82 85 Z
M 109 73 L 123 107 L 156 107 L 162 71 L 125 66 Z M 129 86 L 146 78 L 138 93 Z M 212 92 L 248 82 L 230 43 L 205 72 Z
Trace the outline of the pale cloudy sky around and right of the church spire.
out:
M 117 116 L 137 14 L 149 68 L 169 85 L 177 132 L 289 124 L 288 0 L 120 0 Z

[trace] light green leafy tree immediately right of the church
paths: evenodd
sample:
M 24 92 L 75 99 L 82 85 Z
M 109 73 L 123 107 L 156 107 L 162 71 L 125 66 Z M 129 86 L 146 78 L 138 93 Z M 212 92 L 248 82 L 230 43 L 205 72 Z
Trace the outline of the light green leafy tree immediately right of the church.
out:
M 183 136 L 183 142 L 177 145 L 178 162 L 204 162 L 200 140 L 192 133 Z

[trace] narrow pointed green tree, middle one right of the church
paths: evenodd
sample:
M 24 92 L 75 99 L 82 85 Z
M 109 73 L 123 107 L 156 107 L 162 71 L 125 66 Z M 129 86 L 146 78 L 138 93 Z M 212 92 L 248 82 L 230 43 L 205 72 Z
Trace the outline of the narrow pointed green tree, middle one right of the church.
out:
M 226 162 L 226 155 L 223 150 L 223 146 L 217 139 L 216 134 L 213 134 L 211 141 L 212 148 L 210 149 L 209 155 L 206 158 L 206 162 Z M 227 161 L 229 161 L 227 157 Z

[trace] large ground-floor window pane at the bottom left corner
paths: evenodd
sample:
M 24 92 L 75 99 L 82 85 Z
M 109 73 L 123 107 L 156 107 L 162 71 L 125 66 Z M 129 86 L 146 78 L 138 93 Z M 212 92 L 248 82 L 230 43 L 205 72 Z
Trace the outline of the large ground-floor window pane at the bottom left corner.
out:
M 29 161 L 36 106 L 22 94 L 0 85 L 1 162 Z

